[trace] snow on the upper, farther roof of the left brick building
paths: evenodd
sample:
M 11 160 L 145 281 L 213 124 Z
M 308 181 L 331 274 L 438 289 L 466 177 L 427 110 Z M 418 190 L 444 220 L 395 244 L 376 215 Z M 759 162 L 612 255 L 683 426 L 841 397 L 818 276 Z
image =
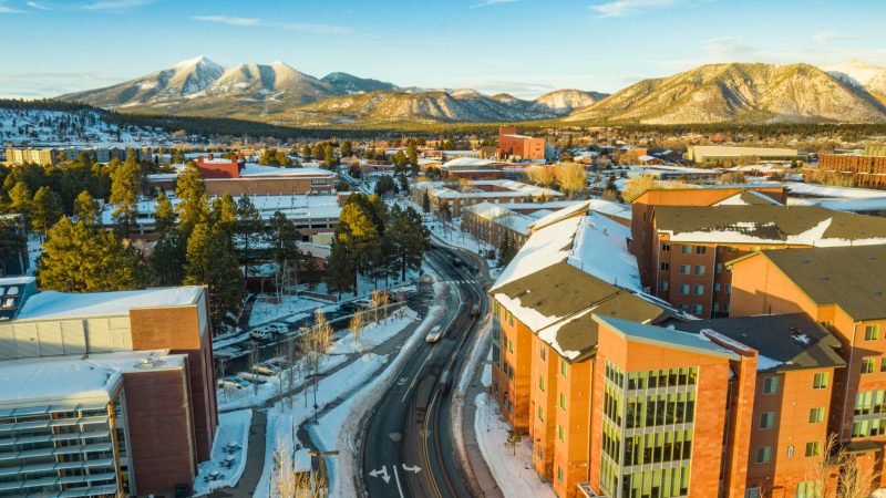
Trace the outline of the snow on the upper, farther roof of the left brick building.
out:
M 43 291 L 24 302 L 16 321 L 122 315 L 138 308 L 188 305 L 196 303 L 202 292 L 196 286 L 82 294 Z

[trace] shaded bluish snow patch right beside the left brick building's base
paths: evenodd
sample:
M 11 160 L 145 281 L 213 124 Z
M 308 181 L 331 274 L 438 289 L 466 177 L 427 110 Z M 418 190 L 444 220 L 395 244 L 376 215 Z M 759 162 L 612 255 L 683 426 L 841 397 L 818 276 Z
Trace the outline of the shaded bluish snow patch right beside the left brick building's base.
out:
M 246 452 L 249 445 L 251 423 L 251 409 L 218 415 L 218 429 L 215 434 L 215 442 L 213 442 L 212 459 L 200 463 L 197 469 L 198 474 L 194 479 L 194 496 L 208 495 L 215 489 L 237 485 L 246 468 Z M 228 449 L 229 445 L 236 445 L 236 449 Z M 212 479 L 209 476 L 218 477 Z

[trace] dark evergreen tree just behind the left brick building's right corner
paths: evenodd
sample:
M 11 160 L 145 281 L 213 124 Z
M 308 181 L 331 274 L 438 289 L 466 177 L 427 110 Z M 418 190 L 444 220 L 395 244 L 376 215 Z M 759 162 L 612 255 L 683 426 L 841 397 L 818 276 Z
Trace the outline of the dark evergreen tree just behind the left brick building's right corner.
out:
M 229 235 L 218 225 L 194 225 L 185 257 L 186 286 L 207 286 L 216 330 L 237 324 L 246 295 L 246 281 L 237 264 Z

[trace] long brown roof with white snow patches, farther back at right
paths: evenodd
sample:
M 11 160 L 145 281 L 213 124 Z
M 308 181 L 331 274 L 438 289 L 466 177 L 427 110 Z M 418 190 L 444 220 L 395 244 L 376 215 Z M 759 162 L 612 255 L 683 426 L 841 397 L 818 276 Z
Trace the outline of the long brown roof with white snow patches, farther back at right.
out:
M 656 228 L 671 241 L 832 247 L 886 243 L 886 218 L 817 206 L 659 206 Z

